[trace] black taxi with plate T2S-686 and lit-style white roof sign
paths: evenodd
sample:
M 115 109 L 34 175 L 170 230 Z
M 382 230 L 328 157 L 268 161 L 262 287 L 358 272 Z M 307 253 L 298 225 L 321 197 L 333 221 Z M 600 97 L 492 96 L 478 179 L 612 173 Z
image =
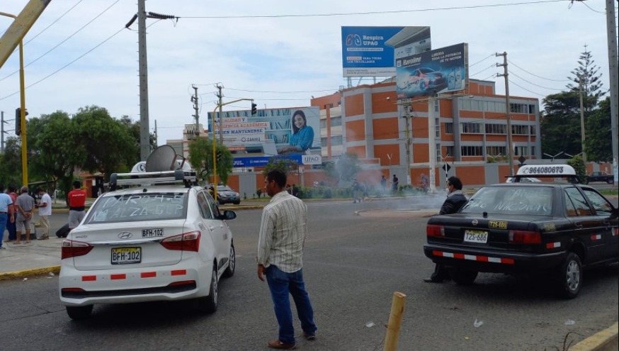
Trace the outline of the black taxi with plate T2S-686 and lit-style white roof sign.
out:
M 618 216 L 596 189 L 577 184 L 571 166 L 525 165 L 514 182 L 480 188 L 458 213 L 429 218 L 424 254 L 458 284 L 478 272 L 541 273 L 572 299 L 584 267 L 619 262 Z

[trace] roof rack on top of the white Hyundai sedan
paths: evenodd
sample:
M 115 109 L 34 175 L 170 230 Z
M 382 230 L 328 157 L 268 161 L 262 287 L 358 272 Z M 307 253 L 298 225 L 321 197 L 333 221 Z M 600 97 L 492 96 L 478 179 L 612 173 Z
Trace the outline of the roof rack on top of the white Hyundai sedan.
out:
M 193 170 L 176 169 L 163 172 L 132 172 L 112 173 L 110 176 L 110 190 L 115 190 L 119 185 L 164 185 L 183 183 L 185 187 L 195 184 L 195 172 Z

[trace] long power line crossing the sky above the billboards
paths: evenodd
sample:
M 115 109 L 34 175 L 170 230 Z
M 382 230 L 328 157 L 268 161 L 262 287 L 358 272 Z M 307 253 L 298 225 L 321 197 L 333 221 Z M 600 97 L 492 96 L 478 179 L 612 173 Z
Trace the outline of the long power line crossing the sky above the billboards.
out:
M 516 3 L 509 3 L 509 4 L 489 4 L 489 5 L 475 5 L 475 6 L 454 6 L 454 7 L 443 7 L 443 8 L 436 8 L 436 9 L 415 9 L 415 10 L 310 13 L 310 14 L 293 14 L 293 15 L 178 16 L 177 18 L 204 18 L 204 19 L 229 19 L 229 18 L 232 18 L 232 19 L 234 19 L 234 18 L 290 18 L 290 17 L 295 18 L 295 17 L 358 16 L 358 15 L 411 13 L 411 12 L 426 12 L 426 11 L 483 9 L 483 8 L 489 8 L 489 7 L 505 7 L 505 6 L 530 5 L 530 4 L 544 4 L 544 3 L 560 2 L 560 1 L 569 1 L 569 0 L 527 1 L 527 2 L 516 2 Z

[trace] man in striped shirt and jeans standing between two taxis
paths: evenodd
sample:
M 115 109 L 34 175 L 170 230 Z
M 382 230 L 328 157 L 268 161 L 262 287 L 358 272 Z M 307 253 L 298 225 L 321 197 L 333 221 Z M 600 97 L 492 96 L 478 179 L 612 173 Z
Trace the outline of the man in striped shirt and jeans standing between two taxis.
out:
M 307 237 L 307 206 L 285 190 L 286 174 L 280 169 L 264 179 L 271 202 L 264 206 L 258 240 L 258 278 L 271 290 L 273 309 L 279 324 L 279 338 L 269 347 L 292 350 L 296 347 L 290 295 L 293 296 L 303 336 L 316 338 L 314 310 L 303 281 L 303 246 Z

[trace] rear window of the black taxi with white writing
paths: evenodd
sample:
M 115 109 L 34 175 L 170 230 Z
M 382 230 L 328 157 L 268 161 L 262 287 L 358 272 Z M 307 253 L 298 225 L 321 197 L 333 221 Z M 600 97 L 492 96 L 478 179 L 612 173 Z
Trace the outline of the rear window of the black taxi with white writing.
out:
M 479 189 L 461 213 L 549 216 L 552 188 L 543 186 L 489 186 Z

